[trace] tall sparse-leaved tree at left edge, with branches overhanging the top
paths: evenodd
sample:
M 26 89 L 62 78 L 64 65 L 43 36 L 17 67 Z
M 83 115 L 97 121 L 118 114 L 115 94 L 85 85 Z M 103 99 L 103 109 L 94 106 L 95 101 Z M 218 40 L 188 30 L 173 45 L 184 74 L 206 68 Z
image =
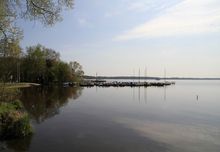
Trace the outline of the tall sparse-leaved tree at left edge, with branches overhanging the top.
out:
M 52 26 L 62 20 L 62 10 L 72 8 L 73 2 L 74 0 L 0 0 L 0 81 L 11 80 L 14 70 L 20 69 L 20 63 L 14 62 L 15 56 L 21 56 L 19 41 L 22 39 L 22 30 L 17 26 L 17 20 L 36 20 L 45 26 Z

